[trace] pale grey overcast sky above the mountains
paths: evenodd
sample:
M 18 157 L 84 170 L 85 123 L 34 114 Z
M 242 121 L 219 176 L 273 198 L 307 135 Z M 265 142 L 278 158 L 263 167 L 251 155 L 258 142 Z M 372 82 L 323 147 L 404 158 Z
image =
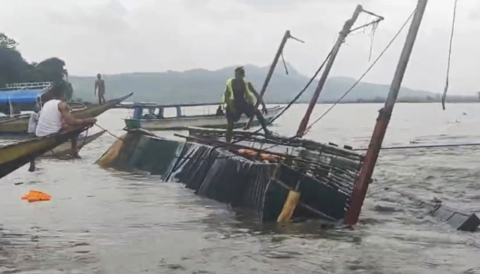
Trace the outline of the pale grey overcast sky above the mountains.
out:
M 355 5 L 385 16 L 373 57 L 417 0 L 0 0 L 0 32 L 20 42 L 29 62 L 56 56 L 71 75 L 267 66 L 286 29 L 285 59 L 311 75 Z M 403 82 L 442 92 L 454 0 L 431 0 Z M 480 90 L 480 1 L 459 1 L 451 94 Z M 361 16 L 357 25 L 371 17 Z M 407 28 L 365 81 L 389 84 Z M 368 67 L 370 30 L 349 36 L 331 75 L 359 77 Z

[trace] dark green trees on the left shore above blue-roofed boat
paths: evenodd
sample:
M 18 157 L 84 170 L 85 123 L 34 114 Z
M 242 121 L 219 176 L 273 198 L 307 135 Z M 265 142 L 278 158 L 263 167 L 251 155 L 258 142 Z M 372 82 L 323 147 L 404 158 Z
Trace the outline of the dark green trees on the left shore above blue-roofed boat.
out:
M 27 82 L 53 82 L 71 99 L 73 88 L 68 83 L 68 71 L 65 62 L 53 57 L 42 62 L 27 62 L 17 49 L 19 43 L 0 33 L 0 88 L 7 84 Z

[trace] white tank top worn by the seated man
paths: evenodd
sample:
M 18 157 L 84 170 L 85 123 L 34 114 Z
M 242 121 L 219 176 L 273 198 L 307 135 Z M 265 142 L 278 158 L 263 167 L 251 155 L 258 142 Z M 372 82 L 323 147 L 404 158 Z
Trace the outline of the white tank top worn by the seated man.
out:
M 54 134 L 62 129 L 63 119 L 58 104 L 60 100 L 50 100 L 43 105 L 42 113 L 38 118 L 35 135 L 38 137 Z

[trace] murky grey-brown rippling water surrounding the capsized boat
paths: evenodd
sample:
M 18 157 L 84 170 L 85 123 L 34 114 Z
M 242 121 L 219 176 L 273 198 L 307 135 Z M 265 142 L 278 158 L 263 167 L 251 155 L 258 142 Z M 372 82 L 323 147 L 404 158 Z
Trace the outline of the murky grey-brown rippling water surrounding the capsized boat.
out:
M 338 105 L 307 138 L 365 147 L 379 108 Z M 303 112 L 294 105 L 272 129 L 293 134 Z M 121 135 L 127 113 L 110 110 L 99 125 Z M 385 146 L 479 142 L 479 122 L 477 104 L 399 104 Z M 81 160 L 41 160 L 35 173 L 24 166 L 0 180 L 0 273 L 480 273 L 479 233 L 456 232 L 383 189 L 480 212 L 479 147 L 383 151 L 361 223 L 321 230 L 262 226 L 182 184 L 93 164 L 113 141 L 104 134 Z M 22 201 L 32 189 L 53 199 Z

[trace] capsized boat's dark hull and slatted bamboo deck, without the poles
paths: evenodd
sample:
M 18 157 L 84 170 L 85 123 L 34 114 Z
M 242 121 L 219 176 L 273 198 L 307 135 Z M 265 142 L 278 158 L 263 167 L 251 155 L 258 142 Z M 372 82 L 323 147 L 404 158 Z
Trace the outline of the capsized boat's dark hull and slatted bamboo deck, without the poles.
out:
M 130 130 L 97 160 L 121 170 L 147 171 L 165 182 L 182 182 L 196 194 L 252 210 L 259 221 L 277 221 L 293 190 L 301 192 L 288 219 L 344 218 L 363 156 L 309 140 L 265 138 L 242 130 L 226 144 L 224 129 L 189 128 L 187 140 Z M 256 143 L 255 147 L 249 144 Z M 283 145 L 278 145 L 283 143 Z M 278 145 L 275 149 L 260 147 Z

